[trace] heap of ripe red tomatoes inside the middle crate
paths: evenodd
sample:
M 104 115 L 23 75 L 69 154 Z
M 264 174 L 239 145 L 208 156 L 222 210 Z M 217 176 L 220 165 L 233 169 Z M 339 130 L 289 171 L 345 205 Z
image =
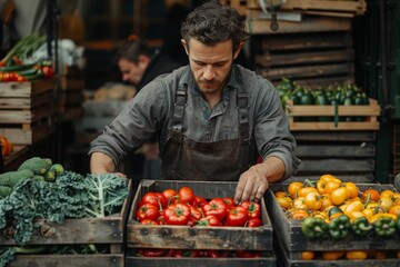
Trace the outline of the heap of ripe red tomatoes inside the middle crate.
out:
M 194 195 L 189 187 L 181 187 L 178 191 L 166 189 L 144 194 L 136 210 L 136 218 L 143 225 L 262 226 L 259 202 L 236 205 L 230 197 L 207 200 Z

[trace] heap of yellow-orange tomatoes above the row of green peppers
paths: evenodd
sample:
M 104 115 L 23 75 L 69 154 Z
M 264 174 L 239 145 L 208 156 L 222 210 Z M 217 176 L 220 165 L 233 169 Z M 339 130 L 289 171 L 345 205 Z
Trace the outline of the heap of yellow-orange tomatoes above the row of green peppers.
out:
M 338 207 L 350 219 L 366 217 L 369 222 L 382 216 L 397 219 L 400 215 L 399 192 L 376 188 L 361 191 L 354 182 L 342 181 L 332 175 L 322 175 L 316 181 L 292 181 L 286 191 L 276 191 L 274 196 L 289 219 L 317 216 L 329 222 L 332 207 Z

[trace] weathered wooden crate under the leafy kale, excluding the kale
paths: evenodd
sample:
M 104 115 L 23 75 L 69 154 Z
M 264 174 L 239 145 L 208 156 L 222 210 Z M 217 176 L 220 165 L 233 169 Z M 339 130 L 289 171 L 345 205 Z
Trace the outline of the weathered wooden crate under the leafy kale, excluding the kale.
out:
M 131 182 L 129 182 L 131 188 Z M 32 239 L 27 246 L 80 246 L 99 245 L 109 249 L 108 254 L 73 254 L 73 255 L 16 255 L 14 260 L 9 263 L 9 267 L 123 267 L 124 266 L 124 229 L 126 220 L 131 205 L 131 197 L 126 199 L 121 212 L 106 218 L 80 218 L 66 219 L 62 224 L 49 221 L 48 219 L 37 219 L 33 224 L 37 229 L 50 227 L 54 230 L 51 236 L 40 235 L 34 231 Z M 0 246 L 10 247 L 18 244 L 3 233 L 0 233 Z

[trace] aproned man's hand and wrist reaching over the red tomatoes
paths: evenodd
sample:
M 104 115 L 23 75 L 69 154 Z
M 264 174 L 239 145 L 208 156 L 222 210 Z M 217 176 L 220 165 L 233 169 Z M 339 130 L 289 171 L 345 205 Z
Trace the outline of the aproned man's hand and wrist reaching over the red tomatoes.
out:
M 240 178 L 234 192 L 234 202 L 260 201 L 269 187 L 284 175 L 284 164 L 278 157 L 269 157 L 262 164 L 251 166 Z

